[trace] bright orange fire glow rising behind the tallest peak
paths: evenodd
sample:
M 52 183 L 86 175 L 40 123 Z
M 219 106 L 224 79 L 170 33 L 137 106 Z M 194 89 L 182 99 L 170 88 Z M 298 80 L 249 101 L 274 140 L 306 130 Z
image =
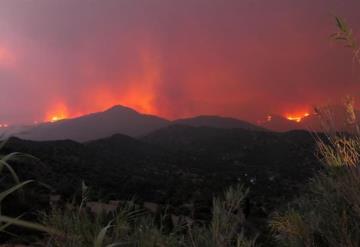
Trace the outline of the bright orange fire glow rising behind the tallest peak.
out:
M 124 105 L 146 114 L 158 114 L 155 96 L 156 88 L 161 82 L 161 66 L 151 49 L 139 48 L 140 61 L 143 66 L 140 73 L 131 74 L 124 84 L 93 83 L 91 88 L 78 97 L 83 101 L 80 107 L 67 104 L 66 98 L 58 96 L 49 105 L 44 116 L 45 122 L 57 122 L 66 118 L 75 118 L 109 109 L 114 105 Z M 84 74 L 91 76 L 91 66 L 84 66 Z M 91 78 L 89 79 L 91 80 Z

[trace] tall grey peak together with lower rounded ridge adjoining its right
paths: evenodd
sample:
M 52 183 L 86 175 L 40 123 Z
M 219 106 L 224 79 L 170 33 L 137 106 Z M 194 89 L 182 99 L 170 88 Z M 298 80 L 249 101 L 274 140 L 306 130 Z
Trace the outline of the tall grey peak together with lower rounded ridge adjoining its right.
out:
M 153 131 L 177 124 L 266 131 L 264 128 L 255 124 L 235 118 L 202 115 L 169 121 L 155 115 L 139 113 L 126 106 L 115 105 L 102 112 L 56 122 L 42 123 L 15 133 L 14 136 L 35 141 L 69 139 L 88 142 L 110 137 L 115 134 L 140 138 Z

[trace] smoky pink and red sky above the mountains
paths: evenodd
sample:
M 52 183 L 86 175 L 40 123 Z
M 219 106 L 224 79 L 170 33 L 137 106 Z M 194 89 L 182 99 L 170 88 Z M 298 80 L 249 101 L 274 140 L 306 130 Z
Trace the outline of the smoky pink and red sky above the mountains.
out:
M 334 14 L 360 34 L 359 0 L 1 0 L 0 123 L 115 104 L 255 121 L 360 95 Z

